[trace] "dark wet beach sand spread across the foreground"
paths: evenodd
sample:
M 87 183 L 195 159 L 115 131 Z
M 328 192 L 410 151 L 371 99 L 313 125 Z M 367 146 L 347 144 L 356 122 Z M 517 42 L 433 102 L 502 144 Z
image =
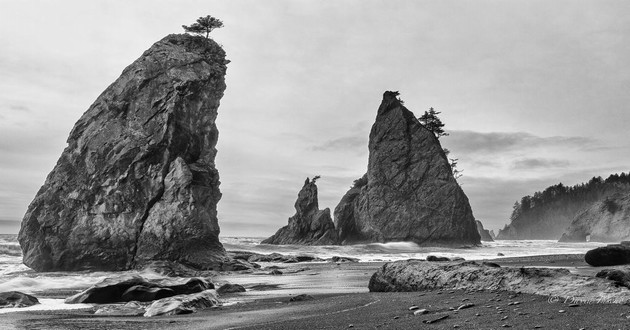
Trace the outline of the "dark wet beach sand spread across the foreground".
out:
M 582 255 L 491 260 L 504 267 L 566 267 L 594 274 Z M 370 293 L 367 284 L 383 263 L 282 265 L 283 275 L 226 274 L 217 283 L 244 285 L 225 295 L 225 306 L 165 317 L 96 317 L 91 310 L 18 312 L 0 316 L 0 329 L 625 329 L 630 307 L 513 292 L 434 290 Z M 294 272 L 297 271 L 297 272 Z M 293 272 L 293 273 L 292 273 Z M 298 294 L 313 300 L 289 302 Z M 459 306 L 474 306 L 455 311 Z M 429 310 L 414 315 L 409 308 Z M 446 317 L 435 323 L 424 323 Z

